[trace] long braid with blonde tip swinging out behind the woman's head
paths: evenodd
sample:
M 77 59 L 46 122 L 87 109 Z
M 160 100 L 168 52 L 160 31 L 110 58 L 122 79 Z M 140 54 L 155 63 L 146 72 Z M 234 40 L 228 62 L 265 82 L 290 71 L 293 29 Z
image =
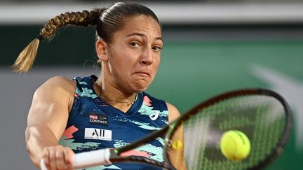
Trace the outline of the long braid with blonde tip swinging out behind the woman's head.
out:
M 64 13 L 48 20 L 43 29 L 41 29 L 39 36 L 27 45 L 27 47 L 20 52 L 20 55 L 13 64 L 15 72 L 27 72 L 32 68 L 40 41 L 43 38 L 51 39 L 55 36 L 55 32 L 60 27 L 72 24 L 76 26 L 88 27 L 88 25 L 95 25 L 99 19 L 100 14 L 105 9 L 95 9 L 90 12 L 83 10 L 82 12 Z

